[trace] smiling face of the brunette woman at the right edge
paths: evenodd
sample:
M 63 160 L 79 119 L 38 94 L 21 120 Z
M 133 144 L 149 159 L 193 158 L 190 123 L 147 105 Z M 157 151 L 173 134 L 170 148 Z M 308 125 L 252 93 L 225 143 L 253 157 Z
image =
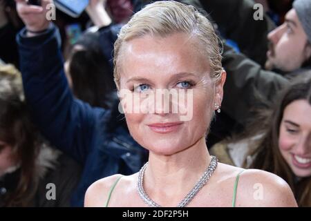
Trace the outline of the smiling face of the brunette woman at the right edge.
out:
M 279 148 L 296 176 L 311 175 L 311 105 L 306 100 L 296 100 L 286 106 Z

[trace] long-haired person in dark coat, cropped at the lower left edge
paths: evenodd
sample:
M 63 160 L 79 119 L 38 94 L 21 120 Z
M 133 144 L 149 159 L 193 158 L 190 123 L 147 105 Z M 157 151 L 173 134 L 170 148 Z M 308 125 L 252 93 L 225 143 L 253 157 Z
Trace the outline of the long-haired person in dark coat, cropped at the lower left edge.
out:
M 33 126 L 18 70 L 0 65 L 0 206 L 69 206 L 79 173 Z

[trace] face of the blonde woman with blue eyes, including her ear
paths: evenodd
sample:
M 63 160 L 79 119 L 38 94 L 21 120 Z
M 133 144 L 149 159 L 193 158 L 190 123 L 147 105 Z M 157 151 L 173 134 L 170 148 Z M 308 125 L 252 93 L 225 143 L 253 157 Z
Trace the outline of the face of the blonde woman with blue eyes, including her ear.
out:
M 212 81 L 200 46 L 198 39 L 182 33 L 147 35 L 122 45 L 119 93 L 125 89 L 130 94 L 128 99 L 120 96 L 126 122 L 133 138 L 153 153 L 171 155 L 198 142 L 215 104 L 221 104 L 225 73 Z M 140 109 L 131 112 L 130 106 Z

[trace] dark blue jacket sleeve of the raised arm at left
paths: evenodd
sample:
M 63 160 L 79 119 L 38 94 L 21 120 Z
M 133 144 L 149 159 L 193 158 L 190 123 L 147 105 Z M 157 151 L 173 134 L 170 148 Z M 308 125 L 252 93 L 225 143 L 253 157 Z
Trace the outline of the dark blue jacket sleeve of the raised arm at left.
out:
M 23 89 L 32 119 L 44 137 L 84 163 L 93 148 L 93 131 L 109 111 L 73 97 L 64 75 L 59 39 L 53 25 L 36 37 L 26 37 L 26 30 L 19 32 Z

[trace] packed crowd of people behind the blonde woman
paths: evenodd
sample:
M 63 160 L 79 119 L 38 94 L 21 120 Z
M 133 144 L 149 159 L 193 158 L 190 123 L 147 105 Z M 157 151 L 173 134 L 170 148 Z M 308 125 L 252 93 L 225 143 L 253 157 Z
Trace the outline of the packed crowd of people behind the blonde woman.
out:
M 279 175 L 311 206 L 311 1 L 179 1 L 213 21 L 223 43 L 209 151 Z M 83 206 L 93 182 L 147 161 L 119 111 L 113 44 L 150 2 L 90 0 L 77 18 L 57 9 L 46 21 L 24 0 L 0 0 L 0 206 Z

